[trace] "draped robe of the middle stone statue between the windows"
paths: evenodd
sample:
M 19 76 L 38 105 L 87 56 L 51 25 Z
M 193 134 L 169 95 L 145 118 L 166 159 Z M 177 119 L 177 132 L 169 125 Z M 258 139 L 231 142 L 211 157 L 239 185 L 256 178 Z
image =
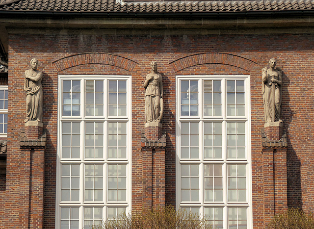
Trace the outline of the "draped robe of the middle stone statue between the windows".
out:
M 148 77 L 147 75 L 146 77 Z M 160 115 L 160 82 L 161 75 L 155 74 L 145 92 L 145 122 L 158 122 Z

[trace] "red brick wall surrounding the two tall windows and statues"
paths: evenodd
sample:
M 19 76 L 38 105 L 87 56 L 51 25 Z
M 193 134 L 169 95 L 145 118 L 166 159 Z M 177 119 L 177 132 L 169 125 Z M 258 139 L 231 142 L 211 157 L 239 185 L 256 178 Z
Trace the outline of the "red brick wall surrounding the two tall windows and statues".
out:
M 282 35 L 9 35 L 9 127 L 6 180 L 7 226 L 19 225 L 21 166 L 23 161 L 18 145 L 19 133 L 24 127 L 25 93 L 24 72 L 29 61 L 36 57 L 43 71 L 44 112 L 47 128 L 44 184 L 44 227 L 54 228 L 55 166 L 57 125 L 57 74 L 105 74 L 132 76 L 132 206 L 140 206 L 142 198 L 141 129 L 144 127 L 144 89 L 142 83 L 150 71 L 149 63 L 158 62 L 163 76 L 164 118 L 167 131 L 165 153 L 166 204 L 175 204 L 175 75 L 251 75 L 251 128 L 252 128 L 252 192 L 253 225 L 262 228 L 262 145 L 260 129 L 263 128 L 262 68 L 270 58 L 284 71 L 282 120 L 288 132 L 287 176 L 288 206 L 302 206 L 314 211 L 314 36 L 313 34 Z M 124 57 L 121 60 L 136 62 L 132 69 L 128 61 L 79 65 L 57 73 L 53 61 L 73 54 L 102 52 Z M 200 62 L 185 58 L 182 70 L 170 64 L 180 58 L 198 53 L 226 53 L 215 61 Z M 233 58 L 228 61 L 225 57 Z M 202 56 L 201 56 L 202 57 Z M 245 59 L 242 59 L 245 58 Z M 248 60 L 248 61 L 247 61 Z M 109 62 L 106 62 L 109 64 Z M 73 62 L 72 65 L 75 65 Z M 121 68 L 121 67 L 124 67 Z M 61 67 L 60 67 L 61 68 Z M 177 72 L 178 71 L 178 72 Z M 177 72 L 177 73 L 175 73 Z

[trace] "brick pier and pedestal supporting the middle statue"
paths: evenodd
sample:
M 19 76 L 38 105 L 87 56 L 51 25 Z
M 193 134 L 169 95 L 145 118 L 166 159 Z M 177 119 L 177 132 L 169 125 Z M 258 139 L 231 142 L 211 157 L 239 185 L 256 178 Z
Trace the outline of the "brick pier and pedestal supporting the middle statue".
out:
M 165 205 L 166 132 L 157 122 L 146 123 L 142 130 L 142 206 L 146 209 Z

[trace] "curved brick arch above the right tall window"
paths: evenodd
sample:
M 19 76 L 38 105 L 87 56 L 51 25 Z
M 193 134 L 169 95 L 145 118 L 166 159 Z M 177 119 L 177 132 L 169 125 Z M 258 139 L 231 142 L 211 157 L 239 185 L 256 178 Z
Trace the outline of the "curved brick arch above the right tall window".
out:
M 170 66 L 176 73 L 183 69 L 201 64 L 226 64 L 251 72 L 256 62 L 241 56 L 219 52 L 194 54 L 170 62 Z

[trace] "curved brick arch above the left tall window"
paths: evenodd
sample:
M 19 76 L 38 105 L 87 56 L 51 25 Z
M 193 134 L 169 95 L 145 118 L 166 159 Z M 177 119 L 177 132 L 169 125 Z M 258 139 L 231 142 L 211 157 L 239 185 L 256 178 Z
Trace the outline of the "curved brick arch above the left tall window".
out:
M 123 56 L 99 52 L 70 55 L 52 62 L 57 72 L 84 64 L 106 64 L 132 72 L 137 62 Z

